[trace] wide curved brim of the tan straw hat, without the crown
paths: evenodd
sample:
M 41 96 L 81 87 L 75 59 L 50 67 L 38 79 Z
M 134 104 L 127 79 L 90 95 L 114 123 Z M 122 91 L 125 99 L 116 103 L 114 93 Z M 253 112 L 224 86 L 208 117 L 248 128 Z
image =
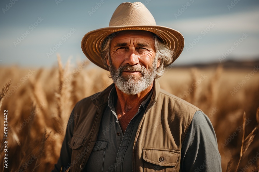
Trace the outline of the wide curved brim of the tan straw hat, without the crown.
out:
M 177 30 L 164 26 L 123 26 L 123 27 L 106 27 L 93 30 L 85 34 L 81 42 L 81 48 L 87 58 L 99 67 L 108 70 L 103 64 L 101 57 L 101 47 L 103 41 L 112 33 L 122 30 L 145 30 L 156 34 L 164 44 L 175 52 L 174 62 L 183 51 L 184 38 Z M 116 34 L 114 34 L 116 36 Z M 170 63 L 171 64 L 171 63 Z M 168 64 L 168 65 L 170 65 Z

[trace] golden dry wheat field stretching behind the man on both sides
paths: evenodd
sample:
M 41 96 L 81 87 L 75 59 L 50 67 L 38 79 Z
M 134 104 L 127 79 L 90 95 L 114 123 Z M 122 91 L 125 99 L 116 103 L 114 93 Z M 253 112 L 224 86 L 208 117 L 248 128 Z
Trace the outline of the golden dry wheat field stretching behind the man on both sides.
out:
M 79 100 L 112 83 L 109 72 L 89 66 L 27 69 L 1 66 L 0 129 L 8 111 L 8 170 L 1 132 L 3 171 L 50 171 L 60 155 L 70 113 Z M 210 118 L 222 158 L 222 171 L 258 171 L 259 72 L 251 68 L 172 67 L 161 88 L 196 105 Z M 10 82 L 9 82 L 10 81 Z

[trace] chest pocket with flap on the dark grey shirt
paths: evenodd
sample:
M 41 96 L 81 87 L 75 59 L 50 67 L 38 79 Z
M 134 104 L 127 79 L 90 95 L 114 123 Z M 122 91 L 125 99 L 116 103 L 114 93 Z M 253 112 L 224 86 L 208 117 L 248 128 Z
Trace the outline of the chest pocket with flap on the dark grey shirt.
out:
M 93 150 L 89 156 L 87 164 L 85 166 L 86 171 L 103 171 L 103 160 L 105 155 L 105 148 L 108 144 L 108 140 L 104 138 L 98 138 L 93 146 Z

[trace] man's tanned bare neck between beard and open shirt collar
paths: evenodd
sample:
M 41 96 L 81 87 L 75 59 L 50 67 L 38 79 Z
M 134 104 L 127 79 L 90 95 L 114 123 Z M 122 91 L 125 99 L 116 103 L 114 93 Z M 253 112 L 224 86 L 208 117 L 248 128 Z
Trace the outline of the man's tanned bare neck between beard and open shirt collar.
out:
M 125 109 L 131 110 L 131 109 L 138 109 L 140 104 L 148 97 L 148 93 L 151 91 L 153 88 L 153 83 L 152 81 L 151 85 L 143 90 L 142 92 L 136 94 L 136 95 L 128 95 L 125 94 L 124 92 L 120 91 L 119 88 L 115 84 L 116 92 L 117 92 L 117 102 L 115 105 L 115 108 L 119 110 L 120 112 L 124 112 Z

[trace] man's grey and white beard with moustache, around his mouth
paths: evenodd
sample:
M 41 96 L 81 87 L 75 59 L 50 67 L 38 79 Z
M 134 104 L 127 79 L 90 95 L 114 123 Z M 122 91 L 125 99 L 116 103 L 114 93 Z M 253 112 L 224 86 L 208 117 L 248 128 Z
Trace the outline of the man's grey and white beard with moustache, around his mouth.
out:
M 136 95 L 147 89 L 152 84 L 152 81 L 154 81 L 157 69 L 156 63 L 157 61 L 154 60 L 152 67 L 149 67 L 148 70 L 140 64 L 134 66 L 127 64 L 120 66 L 118 70 L 116 70 L 114 65 L 110 62 L 111 77 L 120 91 L 128 95 Z M 122 76 L 122 72 L 125 70 L 140 71 L 141 76 L 136 77 L 130 74 L 125 78 Z

